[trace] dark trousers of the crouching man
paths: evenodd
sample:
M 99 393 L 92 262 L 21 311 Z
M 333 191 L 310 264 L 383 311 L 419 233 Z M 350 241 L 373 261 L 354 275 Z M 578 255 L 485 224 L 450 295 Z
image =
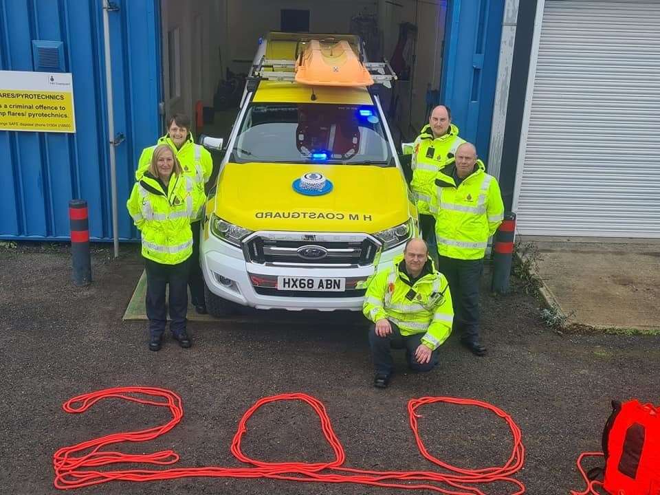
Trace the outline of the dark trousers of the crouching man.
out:
M 392 359 L 391 349 L 406 349 L 406 360 L 408 368 L 412 371 L 431 371 L 438 364 L 438 349 L 433 351 L 431 359 L 426 364 L 419 364 L 415 360 L 415 351 L 424 333 L 413 333 L 411 336 L 402 336 L 399 327 L 393 322 L 392 333 L 386 337 L 376 335 L 376 325 L 369 327 L 369 345 L 371 346 L 371 358 L 376 373 L 389 375 L 394 370 L 394 360 Z

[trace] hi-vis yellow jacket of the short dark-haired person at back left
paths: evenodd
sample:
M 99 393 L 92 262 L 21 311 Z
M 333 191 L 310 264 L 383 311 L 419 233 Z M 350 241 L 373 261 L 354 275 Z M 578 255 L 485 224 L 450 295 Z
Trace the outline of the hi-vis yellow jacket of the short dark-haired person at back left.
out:
M 213 159 L 206 148 L 200 144 L 195 144 L 195 141 L 192 140 L 192 133 L 188 133 L 188 139 L 179 149 L 177 149 L 177 146 L 167 134 L 160 137 L 157 144 L 154 146 L 144 148 L 144 150 L 142 150 L 142 155 L 140 155 L 140 159 L 137 162 L 135 180 L 139 181 L 142 179 L 142 176 L 149 168 L 149 164 L 151 164 L 153 150 L 155 150 L 156 146 L 159 146 L 159 144 L 167 144 L 172 148 L 172 152 L 175 154 L 181 164 L 181 168 L 184 170 L 184 175 L 195 181 L 197 188 L 201 190 L 202 194 L 204 194 L 204 184 L 208 182 L 208 179 L 210 179 L 211 173 L 213 172 Z M 206 195 L 204 196 L 204 199 L 206 199 Z M 201 216 L 195 220 L 199 219 L 201 219 Z

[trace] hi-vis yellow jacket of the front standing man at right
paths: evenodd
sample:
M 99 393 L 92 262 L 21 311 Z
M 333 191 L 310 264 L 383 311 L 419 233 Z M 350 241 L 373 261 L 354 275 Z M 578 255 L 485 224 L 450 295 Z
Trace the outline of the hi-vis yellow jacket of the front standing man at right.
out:
M 431 203 L 435 217 L 438 254 L 455 259 L 483 258 L 489 236 L 504 219 L 500 186 L 485 172 L 481 160 L 474 172 L 456 187 L 454 162 L 435 179 L 436 194 Z

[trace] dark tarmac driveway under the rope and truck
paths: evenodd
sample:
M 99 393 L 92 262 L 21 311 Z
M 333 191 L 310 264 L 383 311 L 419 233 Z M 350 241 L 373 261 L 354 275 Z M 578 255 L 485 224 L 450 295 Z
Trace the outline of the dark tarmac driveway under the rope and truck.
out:
M 370 470 L 432 470 L 410 434 L 412 397 L 471 397 L 503 408 L 522 428 L 525 467 L 516 476 L 529 494 L 582 489 L 577 455 L 599 450 L 610 399 L 660 402 L 660 338 L 560 335 L 538 319 L 529 296 L 482 298 L 487 358 L 474 358 L 452 336 L 432 373 L 404 370 L 386 391 L 371 386 L 366 325 L 359 317 L 255 314 L 241 322 L 190 323 L 192 349 L 170 338 L 146 346 L 144 322 L 122 322 L 142 271 L 134 247 L 118 261 L 94 253 L 94 284 L 69 282 L 65 247 L 0 249 L 0 492 L 54 494 L 52 454 L 110 432 L 145 428 L 164 412 L 102 401 L 81 415 L 61 404 L 114 386 L 158 386 L 184 401 L 179 426 L 155 441 L 120 445 L 124 452 L 173 449 L 177 467 L 241 465 L 230 453 L 236 424 L 256 400 L 303 392 L 320 399 L 346 450 L 344 465 Z M 463 467 L 502 465 L 511 450 L 505 423 L 478 408 L 437 404 L 423 409 L 428 450 Z M 286 402 L 256 412 L 243 440 L 246 454 L 270 461 L 323 461 L 331 449 L 314 412 Z M 134 465 L 122 465 L 130 469 Z M 154 469 L 153 467 L 146 467 Z M 507 494 L 511 485 L 483 487 Z M 388 494 L 403 489 L 272 480 L 186 478 L 111 482 L 80 494 Z M 407 492 L 407 491 L 406 491 Z M 410 493 L 410 492 L 407 492 Z M 426 492 L 430 493 L 430 492 Z

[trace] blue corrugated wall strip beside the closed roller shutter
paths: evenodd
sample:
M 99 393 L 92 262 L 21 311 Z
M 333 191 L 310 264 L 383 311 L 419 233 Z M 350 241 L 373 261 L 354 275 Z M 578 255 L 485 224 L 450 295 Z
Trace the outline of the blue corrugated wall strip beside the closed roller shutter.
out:
M 448 3 L 441 102 L 460 135 L 487 157 L 505 0 Z

